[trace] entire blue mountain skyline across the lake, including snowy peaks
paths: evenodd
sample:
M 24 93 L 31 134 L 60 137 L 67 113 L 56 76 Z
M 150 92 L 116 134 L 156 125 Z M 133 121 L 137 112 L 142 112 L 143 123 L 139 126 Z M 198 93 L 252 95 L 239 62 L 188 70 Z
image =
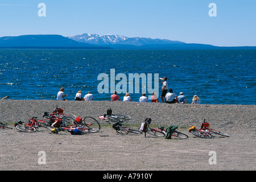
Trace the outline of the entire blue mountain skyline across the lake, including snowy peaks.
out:
M 20 35 L 0 38 L 0 48 L 37 49 L 256 49 L 255 46 L 218 47 L 209 44 L 184 43 L 167 39 L 127 38 L 119 35 L 81 34 Z

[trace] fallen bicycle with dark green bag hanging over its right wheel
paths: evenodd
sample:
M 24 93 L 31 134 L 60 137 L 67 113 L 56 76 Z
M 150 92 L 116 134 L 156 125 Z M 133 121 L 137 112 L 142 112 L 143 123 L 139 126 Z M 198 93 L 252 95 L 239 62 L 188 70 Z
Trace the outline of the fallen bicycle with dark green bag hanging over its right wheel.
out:
M 151 118 L 146 118 L 144 125 L 141 126 L 141 130 L 145 133 L 145 137 L 146 134 L 154 135 L 155 137 L 166 137 L 167 129 L 164 129 L 164 126 L 151 128 L 149 127 L 150 123 Z M 171 137 L 185 139 L 188 138 L 188 135 L 181 133 L 180 131 L 176 131 L 176 129 L 174 129 L 173 131 L 171 131 Z

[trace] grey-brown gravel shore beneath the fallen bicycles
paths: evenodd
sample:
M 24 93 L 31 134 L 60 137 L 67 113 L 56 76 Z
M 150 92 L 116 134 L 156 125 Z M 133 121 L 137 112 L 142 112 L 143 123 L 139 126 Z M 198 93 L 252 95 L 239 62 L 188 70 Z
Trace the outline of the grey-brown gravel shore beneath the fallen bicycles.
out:
M 0 170 L 255 170 L 255 105 L 191 105 L 110 101 L 0 100 L 0 122 L 13 125 L 31 117 L 42 118 L 56 106 L 64 113 L 90 116 L 101 123 L 96 134 L 50 134 L 49 130 L 22 133 L 0 130 Z M 140 126 L 152 118 L 152 126 L 178 125 L 188 139 L 164 139 L 144 135 L 118 135 L 99 115 L 131 116 L 129 123 Z M 208 121 L 213 129 L 229 138 L 195 138 L 191 126 Z M 108 137 L 102 137 L 108 136 Z M 38 163 L 38 152 L 46 152 L 46 164 Z M 217 163 L 209 164 L 210 154 Z M 147 155 L 144 155 L 147 154 Z M 71 165 L 72 164 L 72 165 Z M 78 169 L 76 166 L 80 166 Z

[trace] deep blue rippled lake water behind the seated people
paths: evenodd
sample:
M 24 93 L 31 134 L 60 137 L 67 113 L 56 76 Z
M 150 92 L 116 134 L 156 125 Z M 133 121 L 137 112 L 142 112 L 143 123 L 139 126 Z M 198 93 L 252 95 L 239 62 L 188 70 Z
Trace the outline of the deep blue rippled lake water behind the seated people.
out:
M 98 92 L 97 77 L 109 75 L 110 86 L 114 69 L 115 76 L 127 76 L 127 88 L 129 74 L 152 73 L 153 80 L 156 74 L 166 76 L 169 88 L 183 92 L 188 103 L 196 94 L 201 104 L 255 105 L 255 60 L 255 50 L 0 49 L 0 97 L 56 100 L 64 87 L 68 100 L 75 100 L 78 90 L 83 96 L 92 92 L 97 101 L 110 100 L 110 88 Z M 138 101 L 142 91 L 131 93 L 131 100 Z M 119 96 L 122 100 L 125 93 Z

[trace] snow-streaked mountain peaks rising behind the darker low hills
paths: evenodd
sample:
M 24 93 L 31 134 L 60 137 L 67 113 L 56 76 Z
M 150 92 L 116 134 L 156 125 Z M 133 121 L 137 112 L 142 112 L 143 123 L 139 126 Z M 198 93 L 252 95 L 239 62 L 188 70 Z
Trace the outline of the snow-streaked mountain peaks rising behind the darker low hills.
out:
M 151 39 L 151 38 L 127 38 L 121 35 L 97 35 L 97 34 L 80 34 L 68 36 L 69 39 L 80 43 L 89 43 L 96 45 L 133 45 L 143 46 L 152 44 L 184 44 L 184 42 L 172 41 L 167 39 Z

